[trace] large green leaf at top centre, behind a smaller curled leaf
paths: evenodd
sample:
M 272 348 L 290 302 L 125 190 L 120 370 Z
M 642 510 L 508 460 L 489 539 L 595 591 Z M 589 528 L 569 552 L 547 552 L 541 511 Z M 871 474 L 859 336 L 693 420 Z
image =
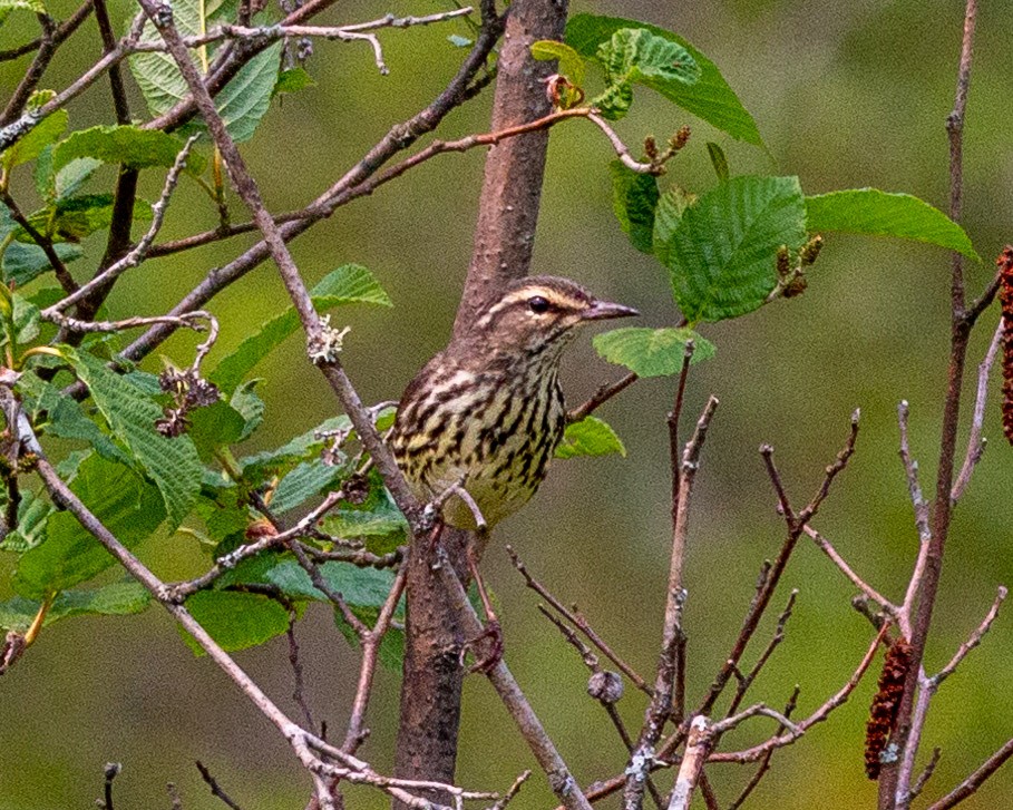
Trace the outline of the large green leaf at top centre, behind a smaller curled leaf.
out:
M 656 37 L 681 45 L 700 68 L 700 79 L 695 84 L 673 82 L 664 89 L 654 88 L 662 96 L 738 140 L 763 145 L 756 121 L 728 86 L 718 67 L 682 37 L 635 20 L 575 14 L 566 23 L 566 43 L 584 57 L 596 58 L 598 46 L 610 41 L 612 35 L 623 28 L 642 28 Z

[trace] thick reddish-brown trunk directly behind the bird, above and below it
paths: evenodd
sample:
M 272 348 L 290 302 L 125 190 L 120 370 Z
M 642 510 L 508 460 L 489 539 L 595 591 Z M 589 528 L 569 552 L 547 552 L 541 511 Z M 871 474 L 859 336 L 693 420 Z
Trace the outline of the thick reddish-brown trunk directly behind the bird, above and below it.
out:
M 484 0 L 483 17 L 494 14 Z M 540 118 L 551 111 L 540 79 L 552 72 L 530 55 L 538 39 L 561 39 L 566 0 L 514 0 L 497 61 L 491 129 Z M 460 333 L 476 312 L 512 280 L 527 274 L 532 260 L 548 133 L 537 131 L 494 146 L 486 158 L 475 248 L 455 323 Z M 469 536 L 444 531 L 441 539 L 461 580 Z M 429 564 L 428 540 L 409 553 L 407 635 L 395 774 L 452 781 L 457 760 L 465 641 L 460 616 L 448 604 Z

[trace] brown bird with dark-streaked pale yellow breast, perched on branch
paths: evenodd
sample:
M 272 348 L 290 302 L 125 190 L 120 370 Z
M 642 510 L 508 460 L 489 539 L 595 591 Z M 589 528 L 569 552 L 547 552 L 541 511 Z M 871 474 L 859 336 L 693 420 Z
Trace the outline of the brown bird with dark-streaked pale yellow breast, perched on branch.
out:
M 512 284 L 401 398 L 391 446 L 416 496 L 431 501 L 462 488 L 487 528 L 524 506 L 566 427 L 558 370 L 575 329 L 636 314 L 566 279 Z M 446 499 L 442 517 L 459 528 L 477 524 L 460 497 Z

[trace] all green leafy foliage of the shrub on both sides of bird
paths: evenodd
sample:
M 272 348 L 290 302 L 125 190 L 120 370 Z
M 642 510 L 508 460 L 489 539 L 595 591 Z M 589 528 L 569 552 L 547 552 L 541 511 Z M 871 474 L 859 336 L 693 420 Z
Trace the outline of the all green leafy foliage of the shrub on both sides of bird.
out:
M 0 17 L 10 10 L 45 11 L 36 0 L 0 0 Z M 227 0 L 173 3 L 175 23 L 185 37 L 234 23 L 237 13 L 237 3 Z M 254 23 L 271 25 L 275 14 L 267 9 Z M 194 65 L 205 76 L 212 75 L 226 48 L 243 55 L 242 67 L 215 95 L 228 133 L 240 143 L 256 135 L 273 98 L 314 86 L 311 72 L 295 65 L 298 59 L 286 50 L 292 43 L 269 43 L 273 36 L 243 40 L 242 46 L 216 41 L 191 49 Z M 142 42 L 154 47 L 159 41 L 154 27 L 145 25 Z M 458 37 L 455 45 L 471 41 Z M 557 60 L 559 74 L 569 82 L 557 104 L 561 110 L 572 110 L 587 98 L 583 115 L 598 125 L 602 118 L 620 121 L 647 88 L 719 134 L 764 148 L 756 120 L 719 68 L 674 32 L 635 20 L 581 13 L 569 20 L 565 42 L 537 41 L 532 52 L 539 60 Z M 155 212 L 164 211 L 166 199 L 153 204 L 128 197 L 129 204 L 118 206 L 126 185 L 123 177 L 145 173 L 149 182 L 140 187 L 146 192 L 159 187 L 184 148 L 181 136 L 203 128 L 194 120 L 174 124 L 172 133 L 152 126 L 188 95 L 166 53 L 154 49 L 135 53 L 129 67 L 149 120 L 67 134 L 70 116 L 61 108 L 36 120 L 0 153 L 0 192 L 12 187 L 16 173 L 20 179 L 31 172 L 40 201 L 23 214 L 13 203 L 0 204 L 0 342 L 6 371 L 18 380 L 14 394 L 47 455 L 59 460 L 58 471 L 71 491 L 126 548 L 144 543 L 162 547 L 167 538 L 178 543 L 181 537 L 194 537 L 207 552 L 208 564 L 220 562 L 227 569 L 186 601 L 192 615 L 224 650 L 269 642 L 289 631 L 309 604 L 340 602 L 333 598 L 335 593 L 360 619 L 374 622 L 391 594 L 389 568 L 330 558 L 315 566 L 320 578 L 314 579 L 291 547 L 263 550 L 237 565 L 225 562 L 263 536 L 257 533 L 267 530 L 269 517 L 292 526 L 338 489 L 344 491 L 342 502 L 301 538 L 316 555 L 314 559 L 349 549 L 362 552 L 363 558 L 388 555 L 407 537 L 408 523 L 347 416 L 281 442 L 269 441 L 266 431 L 261 432 L 275 414 L 267 413 L 259 381 L 251 375 L 283 341 L 300 332 L 301 320 L 293 308 L 267 313 L 224 357 L 213 354 L 205 362 L 202 350 L 192 367 L 184 363 L 181 371 L 167 364 L 159 377 L 137 370 L 120 354 L 120 335 L 81 336 L 67 325 L 69 308 L 62 314 L 48 309 L 74 286 L 66 272 L 55 273 L 64 287 L 52 286 L 49 273 L 66 271 L 61 263 L 86 256 L 89 270 L 100 271 L 116 256 L 98 247 L 98 235 L 117 225 L 137 238 L 137 231 L 143 231 L 138 225 L 146 226 Z M 585 92 L 590 67 L 600 74 L 591 79 L 600 87 Z M 39 91 L 25 109 L 37 110 L 53 98 L 52 91 Z M 623 121 L 630 125 L 631 119 Z M 717 141 L 699 147 L 705 148 L 715 180 L 709 187 L 685 188 L 678 170 L 683 146 L 684 137 L 673 137 L 668 148 L 651 139 L 645 141 L 642 163 L 620 150 L 623 159 L 607 168 L 620 228 L 633 248 L 658 261 L 679 310 L 668 325 L 618 329 L 594 339 L 602 358 L 639 377 L 678 374 L 690 342 L 694 349 L 690 362 L 712 358 L 715 345 L 697 331 L 702 324 L 741 318 L 768 303 L 790 305 L 781 299 L 805 290 L 816 257 L 816 234 L 892 236 L 978 258 L 960 225 L 916 197 L 873 188 L 807 195 L 795 176 L 736 175 Z M 695 141 L 689 148 L 698 148 Z M 113 169 L 104 166 L 118 170 L 115 186 L 108 184 Z M 207 192 L 213 203 L 208 212 L 218 216 L 207 241 L 233 234 L 224 168 L 217 153 L 208 159 L 194 152 L 186 162 L 183 182 Z M 592 166 L 588 173 L 596 170 Z M 393 176 L 397 169 L 384 179 Z M 107 185 L 97 191 L 99 182 Z M 344 192 L 350 187 L 345 185 Z M 362 194 L 371 191 L 360 189 Z M 313 212 L 313 216 L 328 213 Z M 114 223 L 117 215 L 124 219 Z M 243 227 L 250 230 L 240 226 L 234 232 Z M 98 310 L 98 314 L 88 312 L 89 318 L 107 315 L 101 309 L 104 296 L 89 303 Z M 312 304 L 320 313 L 337 309 L 332 314 L 338 316 L 339 308 L 362 303 L 392 305 L 380 281 L 359 264 L 339 266 L 312 290 Z M 64 329 L 58 330 L 61 324 Z M 329 321 L 325 325 L 330 326 Z M 70 388 L 75 383 L 80 386 Z M 203 399 L 194 393 L 198 389 Z M 290 393 L 298 406 L 300 392 Z M 379 430 L 389 427 L 390 408 L 371 413 Z M 172 430 L 166 429 L 167 422 Z M 19 448 L 11 441 L 12 432 L 6 441 L 13 448 L 4 446 L 0 469 L 6 485 L 0 487 L 0 509 L 11 524 L 0 553 L 10 563 L 10 585 L 17 595 L 0 604 L 0 627 L 26 633 L 71 616 L 144 611 L 147 593 L 134 582 L 108 582 L 114 558 L 39 487 L 30 476 L 32 453 L 18 456 L 29 443 Z M 592 416 L 568 424 L 556 449 L 559 459 L 611 453 L 625 456 L 626 449 L 612 427 Z M 335 611 L 339 626 L 354 640 L 345 616 Z M 395 619 L 401 624 L 403 618 L 399 605 Z M 381 650 L 392 666 L 401 655 L 399 634 L 395 627 Z M 199 653 L 199 645 L 189 643 Z

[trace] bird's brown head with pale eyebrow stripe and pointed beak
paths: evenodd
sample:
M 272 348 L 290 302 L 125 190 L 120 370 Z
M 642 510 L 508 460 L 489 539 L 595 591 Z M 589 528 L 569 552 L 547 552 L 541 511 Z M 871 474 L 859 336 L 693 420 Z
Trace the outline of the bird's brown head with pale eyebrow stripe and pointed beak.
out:
M 478 315 L 469 336 L 490 353 L 556 358 L 577 326 L 639 314 L 601 301 L 567 279 L 536 275 L 510 284 Z

